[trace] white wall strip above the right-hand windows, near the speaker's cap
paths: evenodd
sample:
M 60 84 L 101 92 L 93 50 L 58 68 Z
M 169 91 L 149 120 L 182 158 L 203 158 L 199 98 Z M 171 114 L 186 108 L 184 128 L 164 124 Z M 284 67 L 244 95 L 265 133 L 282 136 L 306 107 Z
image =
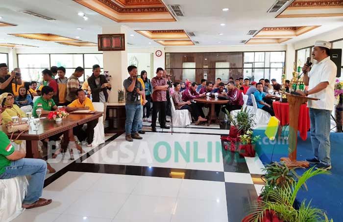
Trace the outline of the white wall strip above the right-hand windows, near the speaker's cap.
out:
M 323 40 L 323 41 L 333 41 L 337 39 L 342 39 L 343 38 L 343 28 L 338 28 L 335 30 L 332 30 L 330 32 L 325 32 L 320 35 L 314 36 L 309 39 L 305 39 L 302 41 L 298 41 L 294 43 L 294 48 L 299 49 L 299 48 L 305 48 L 311 45 L 314 45 L 317 40 Z

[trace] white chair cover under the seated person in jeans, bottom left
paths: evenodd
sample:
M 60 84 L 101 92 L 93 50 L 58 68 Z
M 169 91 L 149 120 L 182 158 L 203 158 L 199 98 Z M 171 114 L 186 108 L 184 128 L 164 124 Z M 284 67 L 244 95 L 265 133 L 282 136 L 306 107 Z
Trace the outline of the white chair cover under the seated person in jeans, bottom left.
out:
M 25 176 L 0 179 L 0 221 L 12 221 L 23 211 L 23 200 L 27 192 Z

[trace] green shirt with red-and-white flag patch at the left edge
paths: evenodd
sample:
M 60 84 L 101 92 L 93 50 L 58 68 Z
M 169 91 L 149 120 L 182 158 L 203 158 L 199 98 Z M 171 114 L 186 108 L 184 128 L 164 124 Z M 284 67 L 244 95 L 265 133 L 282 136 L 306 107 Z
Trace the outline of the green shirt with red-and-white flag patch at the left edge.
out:
M 0 131 L 0 175 L 5 172 L 5 167 L 11 165 L 11 160 L 6 156 L 13 154 L 14 147 L 9 141 L 7 135 Z

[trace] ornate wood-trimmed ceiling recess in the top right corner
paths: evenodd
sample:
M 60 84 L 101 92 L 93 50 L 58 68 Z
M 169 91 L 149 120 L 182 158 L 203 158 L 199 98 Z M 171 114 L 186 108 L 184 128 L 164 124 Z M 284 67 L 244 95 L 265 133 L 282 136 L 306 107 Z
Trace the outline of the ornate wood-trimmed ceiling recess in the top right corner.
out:
M 276 18 L 343 16 L 343 0 L 294 0 Z

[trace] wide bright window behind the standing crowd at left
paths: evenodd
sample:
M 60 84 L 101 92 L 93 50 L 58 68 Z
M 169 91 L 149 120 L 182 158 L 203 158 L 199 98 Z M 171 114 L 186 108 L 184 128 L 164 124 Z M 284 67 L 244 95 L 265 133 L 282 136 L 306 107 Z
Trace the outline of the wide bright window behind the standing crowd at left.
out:
M 66 77 L 70 77 L 76 67 L 84 67 L 85 75 L 79 78 L 84 82 L 92 75 L 93 65 L 98 64 L 103 72 L 102 58 L 102 54 L 18 54 L 18 65 L 25 81 L 41 81 L 43 69 L 51 66 L 65 67 Z

